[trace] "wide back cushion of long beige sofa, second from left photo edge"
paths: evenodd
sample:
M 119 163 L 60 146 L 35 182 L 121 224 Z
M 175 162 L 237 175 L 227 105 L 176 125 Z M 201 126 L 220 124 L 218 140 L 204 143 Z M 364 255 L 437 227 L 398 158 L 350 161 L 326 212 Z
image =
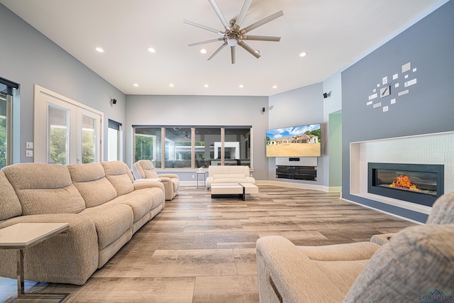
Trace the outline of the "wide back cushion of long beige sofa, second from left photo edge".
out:
M 77 214 L 85 209 L 84 199 L 63 165 L 21 163 L 3 171 L 16 191 L 23 215 Z

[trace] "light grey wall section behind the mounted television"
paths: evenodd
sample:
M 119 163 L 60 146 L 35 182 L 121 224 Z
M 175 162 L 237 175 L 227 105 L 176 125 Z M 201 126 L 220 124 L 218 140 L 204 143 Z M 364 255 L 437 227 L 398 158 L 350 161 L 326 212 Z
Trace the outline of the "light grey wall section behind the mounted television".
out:
M 317 83 L 299 89 L 293 89 L 282 94 L 270 97 L 270 110 L 268 128 L 281 128 L 288 126 L 301 126 L 312 123 L 321 123 L 321 148 L 322 155 L 317 158 L 317 181 L 287 180 L 276 178 L 276 158 L 268 158 L 270 180 L 289 183 L 303 183 L 328 186 L 325 173 L 328 167 L 327 123 L 323 121 L 323 84 Z

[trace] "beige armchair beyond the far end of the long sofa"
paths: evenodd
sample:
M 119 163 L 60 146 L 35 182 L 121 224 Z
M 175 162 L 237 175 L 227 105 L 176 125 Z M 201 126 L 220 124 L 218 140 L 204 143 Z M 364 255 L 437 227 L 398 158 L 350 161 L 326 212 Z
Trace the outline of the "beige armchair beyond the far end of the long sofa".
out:
M 145 179 L 160 179 L 164 184 L 165 199 L 172 200 L 177 196 L 179 191 L 179 177 L 175 174 L 157 175 L 155 165 L 150 160 L 138 160 L 133 164 L 133 175 L 135 181 L 143 181 Z

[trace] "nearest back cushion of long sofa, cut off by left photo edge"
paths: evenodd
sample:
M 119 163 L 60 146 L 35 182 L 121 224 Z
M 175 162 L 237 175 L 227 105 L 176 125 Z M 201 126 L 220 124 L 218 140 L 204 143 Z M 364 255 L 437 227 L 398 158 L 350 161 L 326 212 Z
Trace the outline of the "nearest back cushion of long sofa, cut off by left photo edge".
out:
M 22 206 L 19 198 L 3 171 L 0 171 L 0 221 L 21 216 Z

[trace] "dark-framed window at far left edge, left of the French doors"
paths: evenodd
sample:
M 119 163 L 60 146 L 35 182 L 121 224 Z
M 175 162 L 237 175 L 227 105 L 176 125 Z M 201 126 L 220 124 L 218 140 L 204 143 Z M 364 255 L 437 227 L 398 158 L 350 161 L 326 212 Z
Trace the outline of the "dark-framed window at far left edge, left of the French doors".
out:
M 0 169 L 12 164 L 12 103 L 18 87 L 18 84 L 0 78 Z

